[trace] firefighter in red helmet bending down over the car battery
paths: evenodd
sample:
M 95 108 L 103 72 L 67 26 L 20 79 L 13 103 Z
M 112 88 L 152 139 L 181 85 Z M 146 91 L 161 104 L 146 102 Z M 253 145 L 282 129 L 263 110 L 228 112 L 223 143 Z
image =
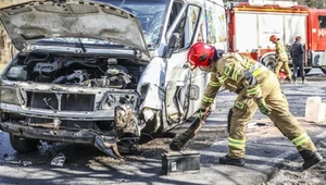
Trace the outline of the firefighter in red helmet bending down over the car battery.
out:
M 289 112 L 286 97 L 280 90 L 275 74 L 253 59 L 238 53 L 224 53 L 204 42 L 195 44 L 188 52 L 191 69 L 211 72 L 211 81 L 202 98 L 199 118 L 205 118 L 205 110 L 223 86 L 238 97 L 231 108 L 228 151 L 220 158 L 221 163 L 243 165 L 247 124 L 258 109 L 266 114 L 280 132 L 291 140 L 304 159 L 303 169 L 322 160 L 310 136 Z M 172 150 L 180 150 L 196 135 L 199 126 L 190 126 L 170 144 Z M 192 130 L 192 133 L 189 132 Z M 190 134 L 189 134 L 190 133 Z

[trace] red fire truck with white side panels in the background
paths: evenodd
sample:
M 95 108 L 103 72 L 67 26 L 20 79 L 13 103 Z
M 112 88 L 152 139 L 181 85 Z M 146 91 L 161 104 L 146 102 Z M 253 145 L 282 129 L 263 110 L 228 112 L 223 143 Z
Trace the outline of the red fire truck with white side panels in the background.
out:
M 273 70 L 275 46 L 269 36 L 279 37 L 288 51 L 296 36 L 301 36 L 305 73 L 321 67 L 326 74 L 326 9 L 238 2 L 227 5 L 226 17 L 230 51 L 249 55 Z

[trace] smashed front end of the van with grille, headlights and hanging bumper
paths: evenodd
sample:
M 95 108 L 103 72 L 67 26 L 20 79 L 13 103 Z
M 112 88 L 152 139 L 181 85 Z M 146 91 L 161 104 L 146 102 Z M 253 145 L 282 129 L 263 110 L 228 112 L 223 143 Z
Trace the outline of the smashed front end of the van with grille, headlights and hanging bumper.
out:
M 0 127 L 15 136 L 89 144 L 120 159 L 117 143 L 137 143 L 140 136 L 138 94 L 133 89 L 35 83 L 8 84 L 0 89 Z

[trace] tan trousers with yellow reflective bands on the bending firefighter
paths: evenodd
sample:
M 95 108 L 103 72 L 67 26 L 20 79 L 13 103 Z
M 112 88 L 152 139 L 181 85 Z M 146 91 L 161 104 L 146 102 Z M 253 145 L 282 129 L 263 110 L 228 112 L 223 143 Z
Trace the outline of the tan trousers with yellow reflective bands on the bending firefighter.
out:
M 316 148 L 311 138 L 290 113 L 288 101 L 281 92 L 277 77 L 271 71 L 261 75 L 263 77 L 258 76 L 260 77 L 259 83 L 263 97 L 271 109 L 268 118 L 299 151 L 315 151 Z M 242 89 L 233 107 L 233 116 L 230 119 L 227 156 L 234 159 L 244 157 L 247 125 L 258 110 L 254 100 L 244 95 L 246 89 Z

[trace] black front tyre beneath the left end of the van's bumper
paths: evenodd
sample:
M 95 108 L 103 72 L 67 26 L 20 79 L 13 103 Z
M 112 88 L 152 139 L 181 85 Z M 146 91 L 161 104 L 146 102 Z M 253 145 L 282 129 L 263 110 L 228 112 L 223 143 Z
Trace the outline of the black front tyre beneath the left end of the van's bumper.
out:
M 39 139 L 23 138 L 10 134 L 10 144 L 12 148 L 18 152 L 29 152 L 37 149 Z

